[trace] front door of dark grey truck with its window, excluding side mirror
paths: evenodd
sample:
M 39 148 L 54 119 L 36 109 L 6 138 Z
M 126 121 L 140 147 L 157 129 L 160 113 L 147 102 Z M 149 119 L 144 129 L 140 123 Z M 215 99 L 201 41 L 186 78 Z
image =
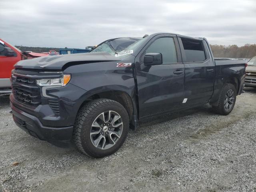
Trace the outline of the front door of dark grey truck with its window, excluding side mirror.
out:
M 146 53 L 161 53 L 163 63 L 145 66 Z M 140 117 L 180 108 L 184 98 L 184 64 L 178 38 L 153 37 L 135 58 Z

